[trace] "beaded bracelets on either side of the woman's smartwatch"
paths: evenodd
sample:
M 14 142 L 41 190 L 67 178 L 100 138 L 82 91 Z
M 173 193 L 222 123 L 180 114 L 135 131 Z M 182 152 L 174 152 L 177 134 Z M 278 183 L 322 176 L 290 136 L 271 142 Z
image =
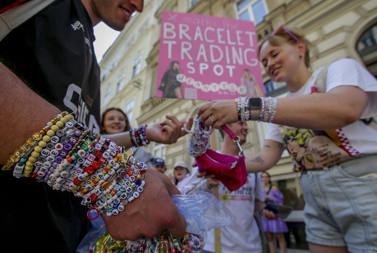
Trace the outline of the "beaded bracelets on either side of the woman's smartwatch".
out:
M 276 115 L 277 99 L 273 97 L 262 97 L 262 108 L 259 112 L 259 121 L 271 123 Z M 239 97 L 234 100 L 237 106 L 238 119 L 250 120 L 249 98 Z

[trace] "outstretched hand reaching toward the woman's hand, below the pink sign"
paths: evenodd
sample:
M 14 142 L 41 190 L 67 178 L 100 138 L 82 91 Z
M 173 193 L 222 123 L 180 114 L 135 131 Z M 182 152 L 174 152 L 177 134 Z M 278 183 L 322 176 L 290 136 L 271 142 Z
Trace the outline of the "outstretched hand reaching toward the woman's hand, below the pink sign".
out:
M 186 121 L 179 121 L 175 116 L 166 115 L 168 120 L 163 122 L 156 122 L 148 126 L 146 129 L 146 135 L 149 141 L 155 141 L 158 143 L 172 144 L 175 143 L 179 137 L 187 134 L 182 127 Z M 187 129 L 191 129 L 193 118 L 190 117 L 187 123 Z

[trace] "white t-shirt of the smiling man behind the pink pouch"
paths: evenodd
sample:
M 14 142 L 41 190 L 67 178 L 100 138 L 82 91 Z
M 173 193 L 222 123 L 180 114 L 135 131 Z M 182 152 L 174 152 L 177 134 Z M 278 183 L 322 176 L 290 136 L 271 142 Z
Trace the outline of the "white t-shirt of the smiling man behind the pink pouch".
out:
M 196 176 L 198 167 L 192 169 L 191 178 L 185 187 L 185 191 L 191 190 L 196 183 L 203 180 Z M 256 189 L 255 189 L 256 188 Z M 234 216 L 234 224 L 222 227 L 221 250 L 223 253 L 248 252 L 261 253 L 262 242 L 259 236 L 258 225 L 254 218 L 255 198 L 264 202 L 262 181 L 260 173 L 257 174 L 257 186 L 255 187 L 255 174 L 247 174 L 247 182 L 240 189 L 230 192 L 221 182 L 219 189 L 219 201 Z M 215 252 L 215 230 L 207 232 L 204 250 Z

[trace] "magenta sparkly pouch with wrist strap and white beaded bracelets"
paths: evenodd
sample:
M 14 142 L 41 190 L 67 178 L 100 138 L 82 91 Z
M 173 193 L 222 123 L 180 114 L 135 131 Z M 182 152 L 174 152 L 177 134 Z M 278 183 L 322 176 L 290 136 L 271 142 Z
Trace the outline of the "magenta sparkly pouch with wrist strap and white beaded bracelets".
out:
M 239 136 L 236 136 L 225 125 L 221 126 L 221 128 L 224 129 L 224 131 L 233 138 L 234 143 L 237 144 L 239 150 L 238 158 L 208 149 L 208 138 L 213 129 L 206 130 L 208 126 L 202 124 L 200 120 L 191 135 L 188 152 L 195 157 L 199 172 L 206 172 L 207 175 L 215 175 L 215 179 L 221 181 L 229 190 L 234 191 L 243 186 L 247 181 L 245 156 L 239 144 Z

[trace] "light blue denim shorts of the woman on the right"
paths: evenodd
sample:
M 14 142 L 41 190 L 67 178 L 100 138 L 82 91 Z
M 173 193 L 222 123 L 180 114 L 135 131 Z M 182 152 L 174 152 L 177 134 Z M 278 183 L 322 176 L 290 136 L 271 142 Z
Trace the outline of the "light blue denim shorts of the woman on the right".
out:
M 377 173 L 377 155 L 302 173 L 308 242 L 377 252 L 377 177 L 370 173 Z

